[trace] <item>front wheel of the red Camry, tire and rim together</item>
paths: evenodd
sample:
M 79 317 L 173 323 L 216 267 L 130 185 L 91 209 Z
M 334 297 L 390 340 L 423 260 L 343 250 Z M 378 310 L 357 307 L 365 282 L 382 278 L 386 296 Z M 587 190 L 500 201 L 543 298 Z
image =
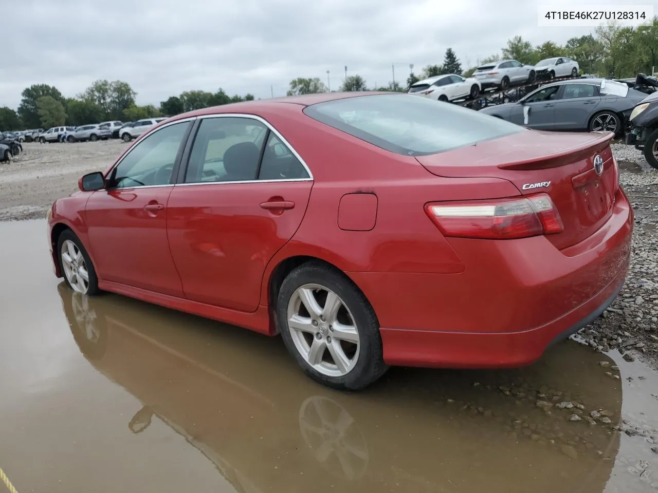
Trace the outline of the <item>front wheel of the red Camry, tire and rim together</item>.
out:
M 82 241 L 71 231 L 63 231 L 57 239 L 59 267 L 66 285 L 76 293 L 93 296 L 99 293 L 98 277 Z

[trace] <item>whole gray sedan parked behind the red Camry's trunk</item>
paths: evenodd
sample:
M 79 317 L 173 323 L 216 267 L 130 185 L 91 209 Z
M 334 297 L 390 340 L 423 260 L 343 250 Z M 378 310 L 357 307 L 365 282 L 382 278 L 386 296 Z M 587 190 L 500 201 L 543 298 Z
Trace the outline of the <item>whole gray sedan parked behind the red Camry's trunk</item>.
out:
M 574 79 L 542 85 L 517 103 L 480 112 L 537 130 L 624 130 L 630 112 L 646 95 L 605 79 Z

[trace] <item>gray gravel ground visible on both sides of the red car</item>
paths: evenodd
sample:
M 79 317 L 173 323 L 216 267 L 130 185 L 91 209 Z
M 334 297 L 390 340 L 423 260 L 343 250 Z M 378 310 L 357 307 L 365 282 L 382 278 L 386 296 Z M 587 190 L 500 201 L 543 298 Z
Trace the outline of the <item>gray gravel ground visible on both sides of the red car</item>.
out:
M 0 163 L 0 221 L 43 218 L 53 200 L 76 190 L 85 173 L 103 170 L 126 148 L 115 139 L 95 143 L 24 144 L 11 164 Z M 636 212 L 626 285 L 580 340 L 596 350 L 620 350 L 658 367 L 658 171 L 642 153 L 615 143 L 621 183 Z

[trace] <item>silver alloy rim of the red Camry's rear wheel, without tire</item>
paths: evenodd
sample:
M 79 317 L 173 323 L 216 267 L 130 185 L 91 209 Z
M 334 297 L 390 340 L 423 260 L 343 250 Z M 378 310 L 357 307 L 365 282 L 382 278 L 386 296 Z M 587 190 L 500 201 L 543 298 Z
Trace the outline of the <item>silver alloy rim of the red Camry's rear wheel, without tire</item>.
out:
M 334 291 L 305 284 L 290 296 L 288 331 L 304 360 L 322 375 L 343 377 L 359 360 L 354 317 Z

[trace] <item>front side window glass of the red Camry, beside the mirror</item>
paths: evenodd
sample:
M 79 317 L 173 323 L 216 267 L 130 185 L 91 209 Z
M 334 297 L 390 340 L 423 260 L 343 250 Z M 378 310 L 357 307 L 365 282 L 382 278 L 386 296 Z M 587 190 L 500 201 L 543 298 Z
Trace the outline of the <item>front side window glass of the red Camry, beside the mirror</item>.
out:
M 161 128 L 140 141 L 111 174 L 111 187 L 167 185 L 190 122 Z

